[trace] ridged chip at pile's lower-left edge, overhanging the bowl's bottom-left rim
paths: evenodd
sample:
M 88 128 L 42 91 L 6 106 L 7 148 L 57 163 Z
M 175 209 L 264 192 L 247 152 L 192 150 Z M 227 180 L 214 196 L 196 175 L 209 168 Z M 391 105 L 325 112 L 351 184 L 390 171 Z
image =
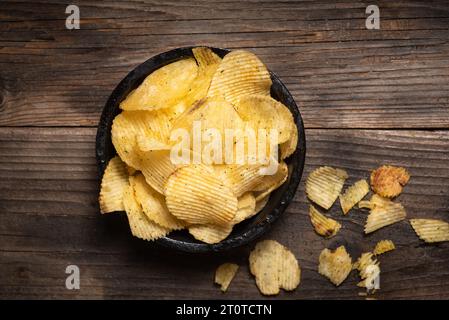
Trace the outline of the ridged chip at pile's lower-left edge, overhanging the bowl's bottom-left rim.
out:
M 152 222 L 143 213 L 142 207 L 137 202 L 131 185 L 123 193 L 123 205 L 133 236 L 143 240 L 155 240 L 166 236 L 170 232 L 170 229 Z

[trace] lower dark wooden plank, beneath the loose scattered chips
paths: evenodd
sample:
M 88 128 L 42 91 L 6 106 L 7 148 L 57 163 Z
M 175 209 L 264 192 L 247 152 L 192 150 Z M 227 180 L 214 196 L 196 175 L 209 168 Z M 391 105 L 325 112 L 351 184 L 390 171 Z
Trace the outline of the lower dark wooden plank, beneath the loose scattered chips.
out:
M 409 217 L 449 221 L 449 132 L 307 130 L 304 177 L 321 165 L 367 178 L 382 163 L 412 175 L 399 197 Z M 93 128 L 0 128 L 1 298 L 260 298 L 246 261 L 252 245 L 224 254 L 177 253 L 133 239 L 120 215 L 101 216 Z M 307 216 L 304 180 L 287 212 L 264 236 L 287 245 L 302 267 L 298 290 L 279 297 L 363 299 L 357 275 L 339 288 L 317 272 L 325 247 L 344 244 L 356 258 L 378 240 L 397 250 L 381 256 L 378 299 L 449 298 L 449 243 L 425 245 L 407 222 L 364 236 L 366 214 L 329 215 L 343 224 L 333 239 L 317 236 Z M 229 292 L 212 283 L 221 262 L 242 265 Z M 81 269 L 81 290 L 65 289 L 65 267 Z

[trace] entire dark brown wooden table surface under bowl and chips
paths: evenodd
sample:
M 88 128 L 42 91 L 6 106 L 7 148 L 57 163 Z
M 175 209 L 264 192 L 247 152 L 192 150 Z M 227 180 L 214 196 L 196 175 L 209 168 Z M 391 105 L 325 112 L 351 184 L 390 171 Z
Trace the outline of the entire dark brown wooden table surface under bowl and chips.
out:
M 366 214 L 317 236 L 304 195 L 308 173 L 344 168 L 348 182 L 389 163 L 412 178 L 408 217 L 449 221 L 447 1 L 76 1 L 79 30 L 59 1 L 0 8 L 0 298 L 262 298 L 249 274 L 252 245 L 225 254 L 172 252 L 133 239 L 121 217 L 100 216 L 94 139 L 116 84 L 147 58 L 181 46 L 255 52 L 286 83 L 306 125 L 307 163 L 287 212 L 264 238 L 297 256 L 299 288 L 280 299 L 364 299 L 353 272 L 338 288 L 317 273 L 325 247 L 353 258 L 381 239 L 378 299 L 449 298 L 449 243 L 425 245 L 403 221 L 369 236 Z M 365 8 L 380 8 L 367 30 Z M 226 294 L 215 268 L 241 265 Z M 65 287 L 67 265 L 81 289 Z

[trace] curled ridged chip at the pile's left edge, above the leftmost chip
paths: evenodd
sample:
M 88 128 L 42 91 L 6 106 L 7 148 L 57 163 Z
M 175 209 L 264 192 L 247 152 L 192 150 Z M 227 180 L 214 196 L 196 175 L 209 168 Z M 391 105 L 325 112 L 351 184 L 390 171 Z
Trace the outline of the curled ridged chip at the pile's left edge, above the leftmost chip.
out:
M 112 123 L 112 143 L 120 158 L 129 166 L 140 169 L 138 139 L 167 143 L 170 122 L 165 112 L 123 111 Z

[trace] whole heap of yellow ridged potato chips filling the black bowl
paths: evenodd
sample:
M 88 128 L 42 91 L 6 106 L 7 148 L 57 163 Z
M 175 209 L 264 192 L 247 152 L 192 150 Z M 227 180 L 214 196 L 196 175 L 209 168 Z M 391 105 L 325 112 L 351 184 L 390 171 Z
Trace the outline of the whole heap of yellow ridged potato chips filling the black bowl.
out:
M 100 209 L 126 211 L 132 234 L 141 239 L 187 229 L 202 242 L 222 241 L 236 224 L 260 212 L 270 193 L 287 180 L 284 159 L 296 150 L 293 116 L 270 96 L 270 73 L 254 54 L 236 50 L 222 59 L 208 48 L 192 51 L 192 58 L 147 76 L 120 103 L 122 112 L 112 124 L 117 156 L 103 175 Z M 195 162 L 207 145 L 200 152 L 188 145 L 182 152 L 188 150 L 189 162 L 174 162 L 173 135 L 187 132 L 187 140 L 194 141 L 192 128 L 198 122 L 201 136 L 212 129 L 222 137 L 229 129 L 275 131 L 277 143 L 264 156 L 277 170 L 264 174 L 265 164 L 259 162 Z M 243 139 L 245 159 L 254 156 L 249 141 L 235 139 L 231 144 Z M 257 143 L 266 140 L 258 135 Z

